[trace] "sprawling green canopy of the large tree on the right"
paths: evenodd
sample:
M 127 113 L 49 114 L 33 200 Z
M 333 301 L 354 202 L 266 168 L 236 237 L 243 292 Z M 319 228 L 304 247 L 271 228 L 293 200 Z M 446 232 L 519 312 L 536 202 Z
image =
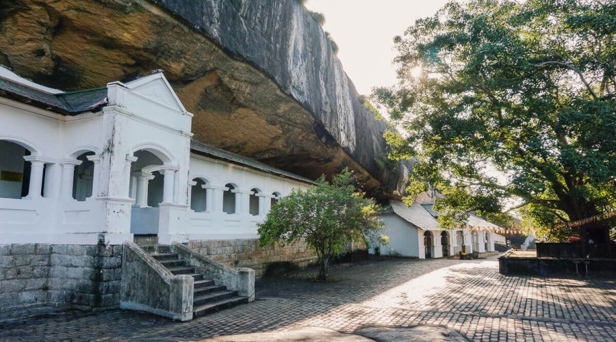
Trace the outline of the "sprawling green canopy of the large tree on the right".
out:
M 391 157 L 416 157 L 409 194 L 442 192 L 444 226 L 615 210 L 615 32 L 609 0 L 451 2 L 416 21 L 394 40 L 399 83 L 373 94 L 398 126 Z

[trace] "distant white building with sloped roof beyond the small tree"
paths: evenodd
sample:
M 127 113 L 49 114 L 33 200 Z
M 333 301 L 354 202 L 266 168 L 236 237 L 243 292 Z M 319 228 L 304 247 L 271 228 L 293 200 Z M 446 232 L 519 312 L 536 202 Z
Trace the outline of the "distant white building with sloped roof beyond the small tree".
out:
M 402 257 L 441 258 L 459 254 L 461 251 L 493 252 L 494 241 L 502 237 L 489 231 L 500 228 L 475 215 L 470 215 L 467 225 L 483 227 L 483 231 L 470 228 L 444 230 L 438 227 L 433 203 L 414 202 L 411 207 L 391 200 L 381 213 L 385 223 L 385 235 L 389 245 L 380 246 L 381 254 Z M 375 248 L 370 250 L 375 252 Z

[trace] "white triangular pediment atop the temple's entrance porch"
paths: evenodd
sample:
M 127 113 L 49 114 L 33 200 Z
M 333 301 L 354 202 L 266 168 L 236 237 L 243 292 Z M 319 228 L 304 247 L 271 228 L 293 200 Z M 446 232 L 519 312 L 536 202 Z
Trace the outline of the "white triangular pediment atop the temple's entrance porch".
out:
M 139 94 L 151 101 L 185 112 L 186 109 L 162 73 L 149 75 L 126 84 L 133 94 Z

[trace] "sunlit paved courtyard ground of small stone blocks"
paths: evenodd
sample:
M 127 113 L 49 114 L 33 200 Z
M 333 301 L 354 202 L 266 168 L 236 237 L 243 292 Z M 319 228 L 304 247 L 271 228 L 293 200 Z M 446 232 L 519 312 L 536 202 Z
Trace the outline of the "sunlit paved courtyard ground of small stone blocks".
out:
M 442 326 L 474 341 L 615 341 L 616 280 L 502 276 L 496 259 L 381 259 L 257 282 L 257 300 L 179 323 L 133 311 L 0 314 L 1 340 L 205 339 L 300 326 Z M 314 272 L 314 271 L 313 271 Z

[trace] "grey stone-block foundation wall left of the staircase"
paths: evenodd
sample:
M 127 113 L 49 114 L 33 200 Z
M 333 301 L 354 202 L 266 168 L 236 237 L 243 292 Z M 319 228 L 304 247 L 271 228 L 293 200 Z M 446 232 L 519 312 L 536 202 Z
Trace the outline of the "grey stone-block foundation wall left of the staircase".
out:
M 120 304 L 122 246 L 0 245 L 0 311 Z

